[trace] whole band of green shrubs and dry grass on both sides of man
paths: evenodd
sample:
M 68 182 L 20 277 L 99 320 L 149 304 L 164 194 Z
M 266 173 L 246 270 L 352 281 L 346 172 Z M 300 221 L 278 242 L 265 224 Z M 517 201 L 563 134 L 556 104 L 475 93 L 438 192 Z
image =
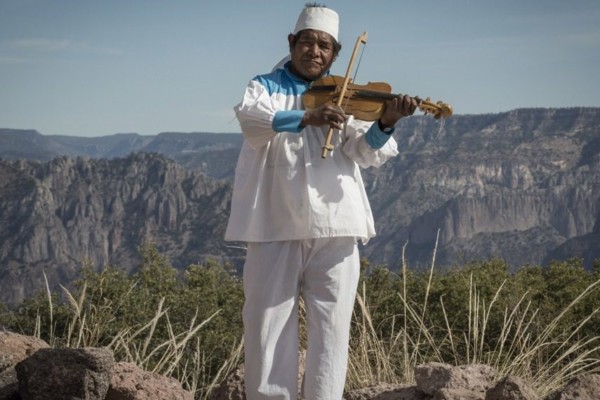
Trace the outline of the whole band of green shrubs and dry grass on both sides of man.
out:
M 1 320 L 55 347 L 108 346 L 118 361 L 174 376 L 208 398 L 243 362 L 241 280 L 215 261 L 177 271 L 152 244 L 140 254 L 135 274 L 86 266 L 69 290 L 0 305 Z M 429 361 L 489 364 L 542 395 L 600 370 L 600 262 L 516 273 L 495 259 L 444 271 L 362 267 L 348 389 L 413 383 L 414 366 Z

